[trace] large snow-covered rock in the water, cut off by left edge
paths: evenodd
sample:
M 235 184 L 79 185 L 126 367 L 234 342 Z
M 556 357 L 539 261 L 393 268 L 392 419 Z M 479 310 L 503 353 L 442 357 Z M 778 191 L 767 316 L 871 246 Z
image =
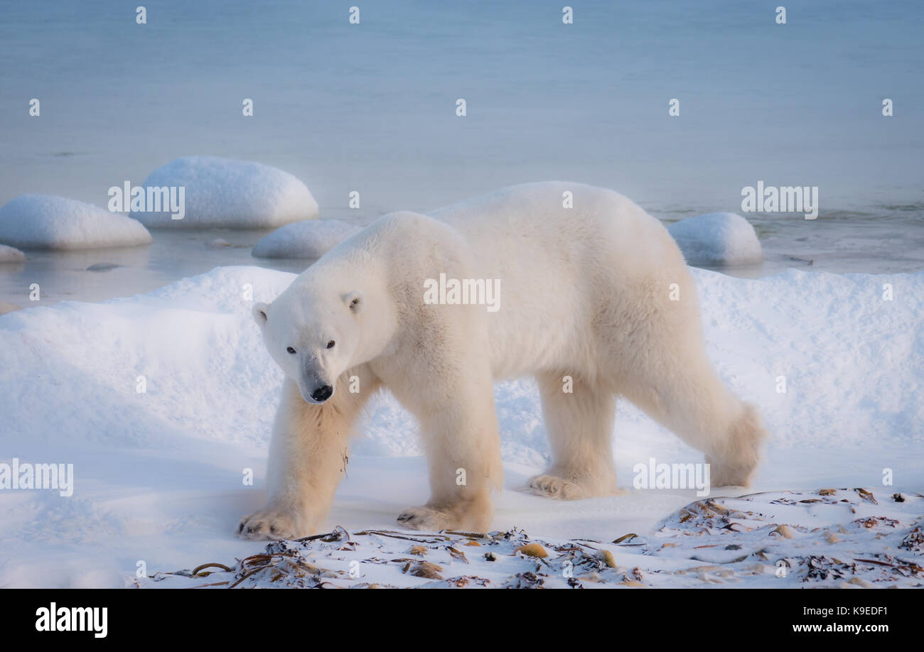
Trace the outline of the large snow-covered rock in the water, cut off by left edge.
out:
M 21 248 L 91 249 L 151 243 L 137 220 L 76 199 L 19 195 L 0 207 L 0 242 Z

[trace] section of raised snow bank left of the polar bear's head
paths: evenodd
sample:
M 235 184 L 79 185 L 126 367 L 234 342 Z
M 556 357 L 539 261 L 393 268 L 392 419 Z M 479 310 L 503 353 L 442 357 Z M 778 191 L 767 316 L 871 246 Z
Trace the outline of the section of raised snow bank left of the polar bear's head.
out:
M 282 376 L 252 324 L 244 288 L 253 288 L 255 300 L 272 301 L 293 278 L 257 267 L 216 268 L 147 295 L 63 301 L 4 316 L 0 368 L 36 370 L 28 387 L 14 392 L 23 401 L 16 414 L 7 415 L 0 398 L 0 413 L 9 417 L 4 438 L 31 433 L 51 442 L 73 426 L 75 441 L 120 446 L 172 446 L 190 435 L 265 441 Z M 60 382 L 47 375 L 55 357 Z M 8 389 L 13 376 L 0 377 L 0 388 Z M 144 392 L 137 392 L 138 377 Z M 55 410 L 29 417 L 46 403 Z M 116 427 L 114 410 L 124 427 Z M 182 425 L 196 413 L 198 434 Z

